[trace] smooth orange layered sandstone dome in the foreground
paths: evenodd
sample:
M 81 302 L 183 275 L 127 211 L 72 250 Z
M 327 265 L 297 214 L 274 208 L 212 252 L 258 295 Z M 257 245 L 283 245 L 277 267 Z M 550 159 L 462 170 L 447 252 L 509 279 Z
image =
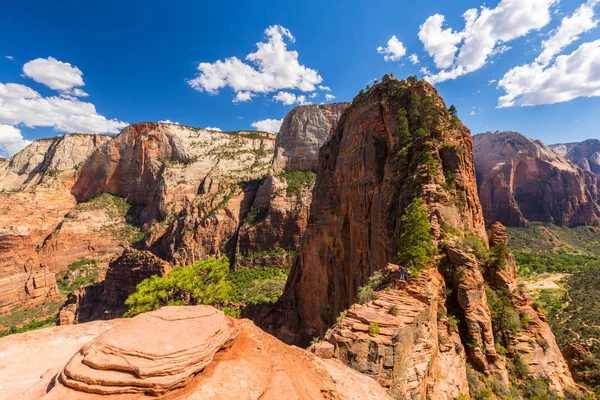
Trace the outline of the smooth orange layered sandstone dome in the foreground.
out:
M 391 399 L 374 380 L 339 361 L 289 347 L 250 321 L 207 306 L 164 307 L 126 320 L 83 346 L 55 379 L 42 379 L 20 398 L 106 395 Z

